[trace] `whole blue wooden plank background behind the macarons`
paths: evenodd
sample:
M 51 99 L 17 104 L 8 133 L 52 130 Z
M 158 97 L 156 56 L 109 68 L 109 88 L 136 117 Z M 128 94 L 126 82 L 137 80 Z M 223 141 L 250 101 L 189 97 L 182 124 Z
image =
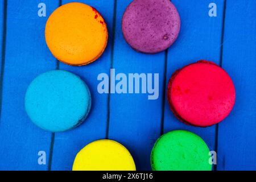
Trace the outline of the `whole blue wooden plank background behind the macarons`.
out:
M 47 17 L 38 16 L 38 4 Z M 217 151 L 213 170 L 256 170 L 256 1 L 172 0 L 181 17 L 175 44 L 156 55 L 135 52 L 123 39 L 121 18 L 131 0 L 85 0 L 104 16 L 109 42 L 104 54 L 85 67 L 58 63 L 44 40 L 48 16 L 69 0 L 0 0 L 0 169 L 71 170 L 77 152 L 97 139 L 125 145 L 138 170 L 150 170 L 150 152 L 160 135 L 171 130 L 192 131 Z M 217 5 L 217 17 L 208 5 Z M 171 113 L 166 99 L 172 73 L 197 60 L 211 60 L 234 81 L 236 105 L 225 121 L 208 128 L 187 126 Z M 146 94 L 99 94 L 97 76 L 117 73 L 159 73 L 159 99 Z M 81 76 L 92 93 L 86 122 L 65 133 L 36 127 L 24 110 L 24 94 L 40 73 L 64 69 Z M 38 152 L 46 151 L 46 165 Z

